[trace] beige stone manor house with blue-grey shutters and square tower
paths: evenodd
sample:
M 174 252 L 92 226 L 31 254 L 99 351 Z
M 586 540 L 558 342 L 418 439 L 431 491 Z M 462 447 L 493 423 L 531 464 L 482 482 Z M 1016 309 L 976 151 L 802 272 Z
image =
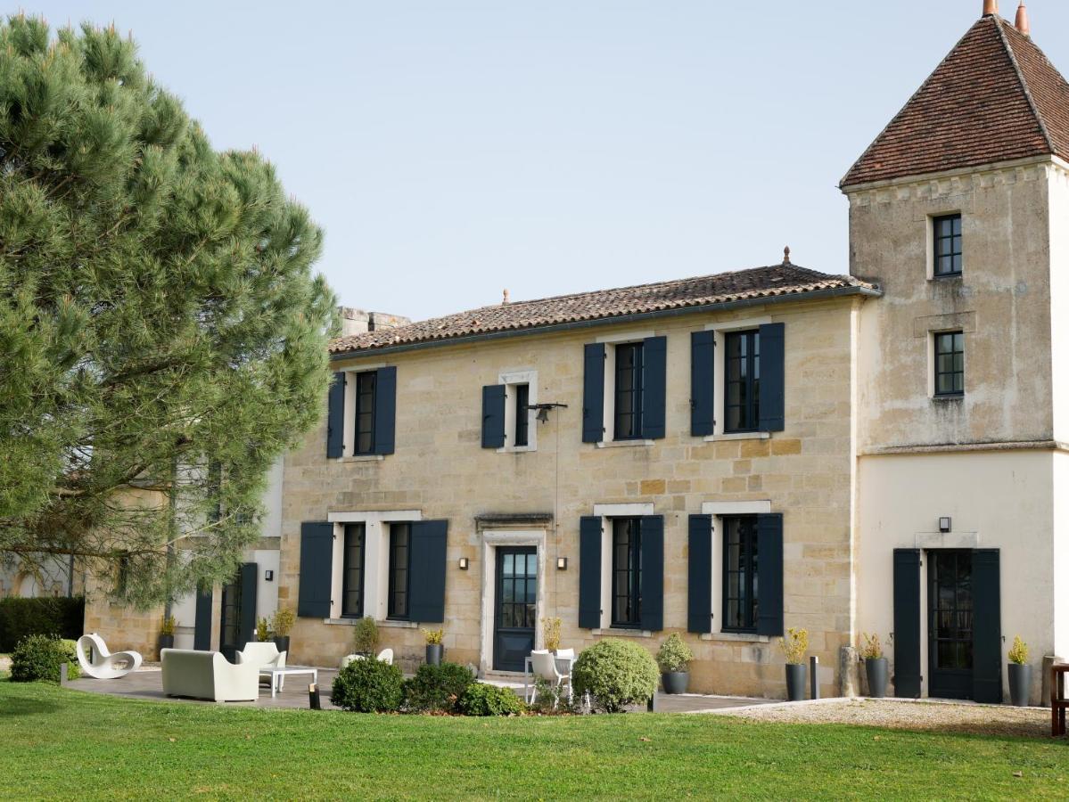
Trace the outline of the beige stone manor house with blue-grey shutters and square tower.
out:
M 842 179 L 849 274 L 788 254 L 332 343 L 273 507 L 291 661 L 373 616 L 402 659 L 443 626 L 503 674 L 559 616 L 783 696 L 804 627 L 825 695 L 864 690 L 869 632 L 896 694 L 998 702 L 1013 635 L 1069 654 L 1069 83 L 995 6 Z

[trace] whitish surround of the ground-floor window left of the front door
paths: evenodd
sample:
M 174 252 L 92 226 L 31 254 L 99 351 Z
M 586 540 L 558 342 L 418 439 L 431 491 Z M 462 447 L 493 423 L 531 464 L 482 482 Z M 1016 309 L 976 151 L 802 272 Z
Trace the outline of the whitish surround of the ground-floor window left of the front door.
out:
M 391 509 L 375 513 L 329 513 L 334 524 L 334 553 L 330 562 L 330 617 L 328 624 L 348 624 L 341 617 L 342 575 L 345 570 L 345 524 L 363 524 L 363 615 L 381 625 L 415 627 L 415 623 L 387 620 L 390 587 L 390 523 L 423 520 L 419 509 Z

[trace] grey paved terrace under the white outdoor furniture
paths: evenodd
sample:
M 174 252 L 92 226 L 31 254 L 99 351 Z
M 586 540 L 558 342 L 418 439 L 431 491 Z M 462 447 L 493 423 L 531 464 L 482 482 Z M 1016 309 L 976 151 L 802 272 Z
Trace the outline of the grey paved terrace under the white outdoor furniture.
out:
M 330 686 L 338 675 L 337 669 L 320 669 L 319 681 L 321 689 L 321 703 L 324 710 L 338 710 L 330 703 Z M 308 677 L 290 677 L 285 681 L 284 689 L 274 698 L 267 686 L 260 687 L 260 698 L 257 702 L 227 702 L 220 703 L 233 707 L 260 707 L 265 709 L 307 709 L 308 708 Z M 490 680 L 493 685 L 512 688 L 517 695 L 523 695 L 523 682 L 507 682 L 501 680 Z M 201 699 L 172 698 L 164 695 L 164 677 L 159 669 L 153 666 L 142 666 L 133 674 L 127 674 L 121 679 L 75 679 L 66 685 L 76 691 L 89 691 L 90 693 L 105 693 L 111 696 L 125 696 L 127 698 L 151 699 L 154 702 L 184 702 L 197 705 L 214 705 L 214 702 Z M 746 708 L 754 705 L 774 704 L 775 699 L 742 698 L 737 696 L 703 696 L 699 694 L 668 695 L 657 692 L 657 712 L 664 713 L 690 713 L 714 710 L 727 710 L 734 708 Z M 646 708 L 635 708 L 635 712 L 645 712 Z

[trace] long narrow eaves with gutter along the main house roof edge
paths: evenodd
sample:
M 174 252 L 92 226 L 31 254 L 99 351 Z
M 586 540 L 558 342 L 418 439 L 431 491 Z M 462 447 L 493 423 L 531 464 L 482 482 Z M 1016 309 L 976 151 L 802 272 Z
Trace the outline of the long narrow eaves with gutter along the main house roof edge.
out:
M 748 306 L 759 306 L 769 303 L 781 303 L 792 300 L 821 300 L 825 298 L 840 298 L 847 296 L 864 296 L 868 298 L 881 298 L 883 289 L 878 284 L 858 282 L 839 287 L 826 289 L 812 289 L 793 293 L 781 293 L 778 295 L 759 296 L 756 298 L 741 298 L 731 301 L 714 301 L 712 303 L 701 303 L 693 306 L 672 306 L 669 309 L 653 310 L 649 312 L 635 312 L 625 315 L 609 317 L 595 317 L 588 319 L 568 320 L 559 324 L 545 326 L 531 326 L 526 328 L 500 329 L 497 331 L 484 331 L 474 334 L 462 334 L 459 336 L 443 336 L 430 340 L 418 340 L 409 343 L 398 343 L 396 345 L 385 345 L 372 348 L 350 348 L 343 351 L 330 353 L 330 361 L 338 362 L 348 359 L 358 359 L 361 356 L 372 356 L 382 353 L 400 353 L 403 351 L 420 350 L 423 348 L 445 347 L 451 345 L 465 345 L 468 343 L 484 342 L 487 340 L 505 340 L 515 336 L 526 336 L 528 334 L 551 334 L 558 331 L 572 331 L 576 329 L 589 329 L 597 326 L 607 326 L 610 324 L 634 323 L 637 320 L 649 320 L 652 318 L 679 317 L 700 312 L 724 311 L 745 309 Z

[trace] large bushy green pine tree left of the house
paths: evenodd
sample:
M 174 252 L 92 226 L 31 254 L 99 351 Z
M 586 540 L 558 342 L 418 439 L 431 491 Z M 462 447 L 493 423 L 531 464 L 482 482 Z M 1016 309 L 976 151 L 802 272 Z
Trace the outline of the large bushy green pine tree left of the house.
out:
M 231 577 L 329 381 L 322 237 L 114 28 L 0 22 L 0 556 L 135 603 Z

